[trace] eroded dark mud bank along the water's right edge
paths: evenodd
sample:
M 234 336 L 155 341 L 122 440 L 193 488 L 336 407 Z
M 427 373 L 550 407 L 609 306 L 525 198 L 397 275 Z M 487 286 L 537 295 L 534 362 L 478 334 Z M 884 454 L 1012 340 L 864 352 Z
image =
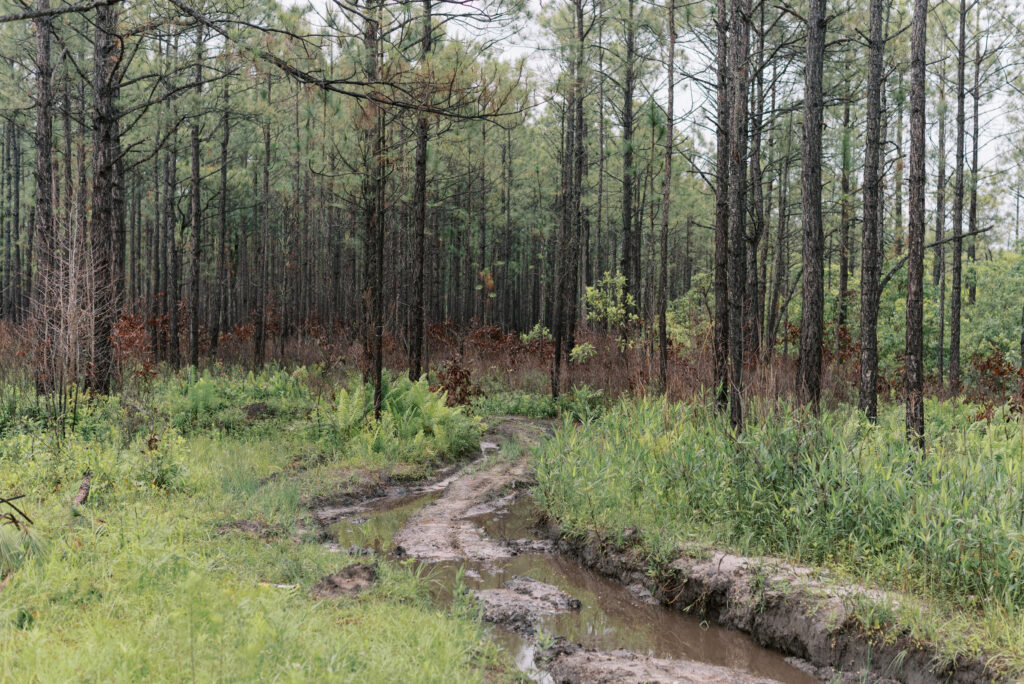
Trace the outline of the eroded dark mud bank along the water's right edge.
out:
M 795 665 L 823 681 L 1009 681 L 988 672 L 980 659 L 942 662 L 934 650 L 905 635 L 869 638 L 850 613 L 849 602 L 893 599 L 866 588 L 831 586 L 810 568 L 714 553 L 680 557 L 659 568 L 654 580 L 634 547 L 616 546 L 596 533 L 575 539 L 551 521 L 544 532 L 561 553 L 586 567 L 636 592 L 649 592 L 663 605 L 744 632 L 760 645 L 797 658 Z

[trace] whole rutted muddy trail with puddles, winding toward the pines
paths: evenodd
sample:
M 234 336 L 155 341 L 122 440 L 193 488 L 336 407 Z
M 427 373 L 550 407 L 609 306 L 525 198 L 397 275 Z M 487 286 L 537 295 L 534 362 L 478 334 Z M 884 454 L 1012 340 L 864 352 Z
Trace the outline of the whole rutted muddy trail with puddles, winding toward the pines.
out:
M 542 682 L 784 682 L 818 679 L 739 632 L 658 604 L 588 569 L 537 528 L 525 448 L 548 424 L 509 418 L 480 457 L 421 486 L 392 487 L 315 517 L 350 554 L 422 563 L 438 600 L 476 601 L 494 638 Z

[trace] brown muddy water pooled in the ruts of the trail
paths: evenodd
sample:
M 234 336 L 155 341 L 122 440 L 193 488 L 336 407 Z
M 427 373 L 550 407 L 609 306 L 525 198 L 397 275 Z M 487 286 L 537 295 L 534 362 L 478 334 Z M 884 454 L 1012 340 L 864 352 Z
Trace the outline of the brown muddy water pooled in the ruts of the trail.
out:
M 367 502 L 331 527 L 337 547 L 394 553 L 394 536 L 411 516 L 441 496 L 440 490 L 414 491 Z M 540 512 L 528 493 L 502 500 L 499 506 L 468 520 L 496 540 L 537 540 Z M 400 550 L 398 550 L 400 553 Z M 580 600 L 579 610 L 543 615 L 534 637 L 496 626 L 495 640 L 519 669 L 536 681 L 551 681 L 535 662 L 538 644 L 561 636 L 587 648 L 629 649 L 660 658 L 689 659 L 723 666 L 785 684 L 810 684 L 815 678 L 762 648 L 746 635 L 709 625 L 659 604 L 650 604 L 623 585 L 606 579 L 557 552 L 523 553 L 486 561 L 419 561 L 425 566 L 435 597 L 442 603 L 458 592 L 500 589 L 514 576 L 553 585 Z

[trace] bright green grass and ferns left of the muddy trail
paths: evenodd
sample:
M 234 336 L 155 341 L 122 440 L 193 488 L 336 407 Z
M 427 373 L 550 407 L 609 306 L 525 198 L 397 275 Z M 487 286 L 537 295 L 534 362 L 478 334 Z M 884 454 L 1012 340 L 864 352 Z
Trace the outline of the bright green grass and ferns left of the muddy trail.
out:
M 308 531 L 310 499 L 427 473 L 479 433 L 459 412 L 418 415 L 436 397 L 395 382 L 389 438 L 399 448 L 375 451 L 367 435 L 377 428 L 362 421 L 339 432 L 325 412 L 340 399 L 317 402 L 312 386 L 302 373 L 250 381 L 224 372 L 190 385 L 160 378 L 84 400 L 63 434 L 31 400 L 8 402 L 0 493 L 28 494 L 19 503 L 35 525 L 27 545 L 0 527 L 0 547 L 15 551 L 0 554 L 12 573 L 0 591 L 0 681 L 510 678 L 474 610 L 436 605 L 412 565 L 373 558 L 380 581 L 369 592 L 341 601 L 311 595 L 353 559 Z M 250 420 L 234 412 L 246 401 L 272 409 Z M 93 494 L 72 510 L 86 469 Z M 225 527 L 234 520 L 272 532 Z

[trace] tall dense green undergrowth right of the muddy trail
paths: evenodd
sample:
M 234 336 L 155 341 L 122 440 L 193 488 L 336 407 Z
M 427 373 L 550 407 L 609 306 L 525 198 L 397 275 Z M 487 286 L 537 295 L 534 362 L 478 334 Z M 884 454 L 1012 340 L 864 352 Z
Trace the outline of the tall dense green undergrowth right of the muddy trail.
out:
M 1008 410 L 930 402 L 925 455 L 903 414 L 876 426 L 752 407 L 741 435 L 713 409 L 624 400 L 536 450 L 537 498 L 569 532 L 641 530 L 654 567 L 726 548 L 920 597 L 854 606 L 944 657 L 1024 670 L 1024 426 Z

